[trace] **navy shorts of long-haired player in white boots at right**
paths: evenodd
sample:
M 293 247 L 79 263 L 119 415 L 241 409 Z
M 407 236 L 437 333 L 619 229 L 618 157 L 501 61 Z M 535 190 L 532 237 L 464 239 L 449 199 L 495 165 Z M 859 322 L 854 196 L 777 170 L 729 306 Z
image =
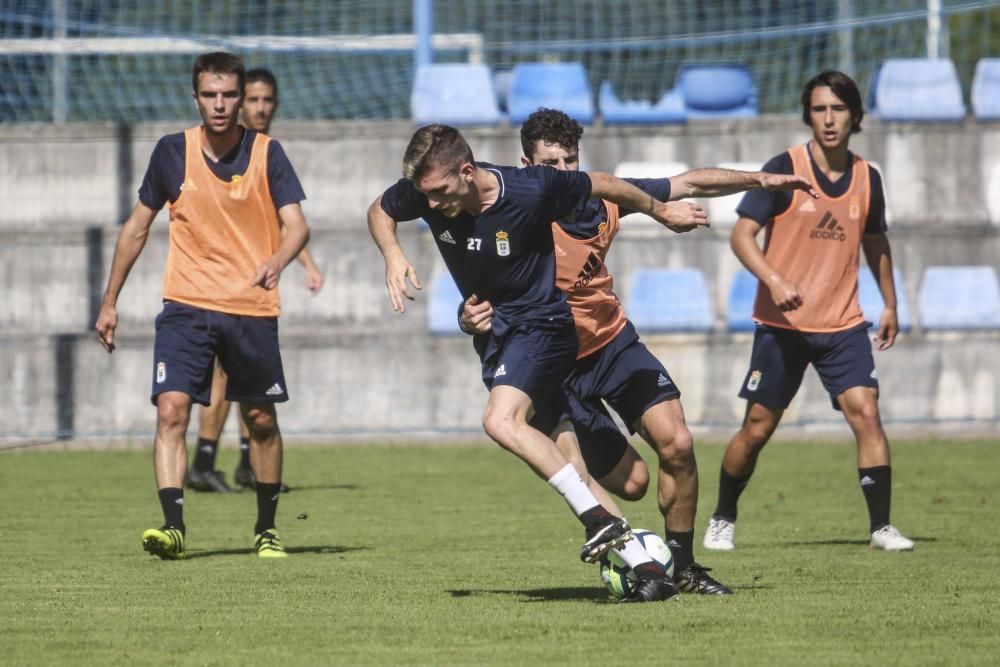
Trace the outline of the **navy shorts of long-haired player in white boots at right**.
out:
M 870 326 L 865 322 L 845 331 L 806 333 L 758 325 L 740 398 L 784 410 L 795 398 L 809 364 L 819 373 L 835 410 L 840 409 L 837 397 L 852 387 L 878 390 Z

